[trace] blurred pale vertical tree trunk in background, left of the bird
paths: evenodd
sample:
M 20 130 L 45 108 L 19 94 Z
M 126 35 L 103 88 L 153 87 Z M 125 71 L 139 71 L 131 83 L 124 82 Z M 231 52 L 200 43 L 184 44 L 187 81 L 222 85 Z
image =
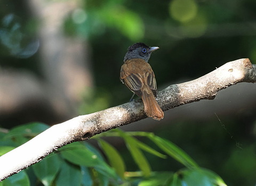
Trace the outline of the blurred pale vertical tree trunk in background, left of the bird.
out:
M 78 9 L 82 1 L 30 0 L 31 10 L 41 20 L 41 64 L 50 86 L 58 91 L 68 112 L 77 114 L 82 92 L 92 87 L 89 46 L 84 38 L 68 37 L 63 31 L 66 16 Z M 63 100 L 62 100 L 63 101 Z M 63 104 L 63 102 L 62 102 Z M 59 106 L 65 106 L 60 104 Z

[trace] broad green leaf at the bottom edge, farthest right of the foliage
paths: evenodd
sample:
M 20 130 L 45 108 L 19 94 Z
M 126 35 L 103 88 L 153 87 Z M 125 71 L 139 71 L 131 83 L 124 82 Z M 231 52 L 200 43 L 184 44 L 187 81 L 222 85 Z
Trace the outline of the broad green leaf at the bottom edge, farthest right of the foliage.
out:
M 186 169 L 175 173 L 171 186 L 179 185 L 227 186 L 219 175 L 205 168 Z

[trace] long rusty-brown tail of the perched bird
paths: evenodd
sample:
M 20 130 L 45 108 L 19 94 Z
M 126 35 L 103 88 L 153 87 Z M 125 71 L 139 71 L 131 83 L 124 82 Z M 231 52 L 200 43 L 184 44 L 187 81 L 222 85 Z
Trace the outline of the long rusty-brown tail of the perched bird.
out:
M 144 111 L 147 116 L 152 117 L 154 120 L 162 120 L 164 118 L 164 112 L 157 104 L 153 92 L 147 86 L 143 86 L 141 91 Z

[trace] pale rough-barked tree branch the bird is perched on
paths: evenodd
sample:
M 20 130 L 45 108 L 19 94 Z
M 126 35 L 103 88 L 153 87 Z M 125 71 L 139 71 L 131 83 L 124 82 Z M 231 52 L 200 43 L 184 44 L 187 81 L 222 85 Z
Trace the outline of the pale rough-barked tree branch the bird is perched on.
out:
M 217 92 L 239 82 L 256 81 L 256 65 L 248 58 L 228 62 L 193 81 L 173 84 L 158 92 L 163 111 L 201 99 L 214 99 Z M 74 141 L 91 138 L 146 118 L 140 100 L 82 115 L 57 124 L 0 157 L 0 181 L 33 165 L 54 150 Z

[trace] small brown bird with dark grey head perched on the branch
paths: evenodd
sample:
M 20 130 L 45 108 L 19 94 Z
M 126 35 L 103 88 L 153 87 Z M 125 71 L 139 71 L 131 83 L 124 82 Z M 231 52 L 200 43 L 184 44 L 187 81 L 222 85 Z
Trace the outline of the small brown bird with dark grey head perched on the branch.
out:
M 157 92 L 155 74 L 148 64 L 151 53 L 158 48 L 148 47 L 143 43 L 133 44 L 124 56 L 124 64 L 120 72 L 120 80 L 134 94 L 142 98 L 145 113 L 154 120 L 164 118 L 164 112 L 155 99 Z

